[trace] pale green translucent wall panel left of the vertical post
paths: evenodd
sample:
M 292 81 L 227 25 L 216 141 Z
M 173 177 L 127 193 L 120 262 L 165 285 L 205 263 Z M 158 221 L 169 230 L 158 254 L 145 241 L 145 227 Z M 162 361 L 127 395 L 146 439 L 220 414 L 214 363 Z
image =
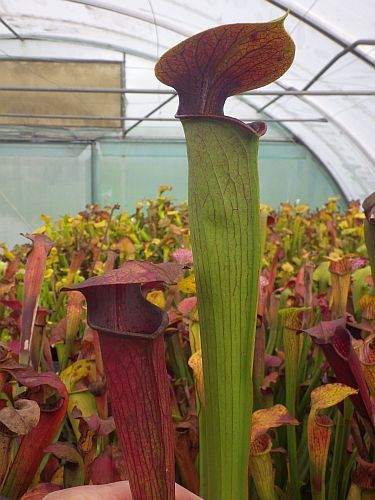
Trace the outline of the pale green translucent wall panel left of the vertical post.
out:
M 0 242 L 22 243 L 18 235 L 40 227 L 41 214 L 57 218 L 91 202 L 88 146 L 1 144 L 0 164 Z

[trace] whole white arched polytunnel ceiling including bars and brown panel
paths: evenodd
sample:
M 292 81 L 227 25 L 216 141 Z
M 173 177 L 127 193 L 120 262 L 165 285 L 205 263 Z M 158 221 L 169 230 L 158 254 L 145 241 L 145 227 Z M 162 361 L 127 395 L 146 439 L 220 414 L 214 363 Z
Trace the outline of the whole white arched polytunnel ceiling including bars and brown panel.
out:
M 100 137 L 106 127 L 120 127 L 122 138 L 156 127 L 178 135 L 174 94 L 154 78 L 154 61 L 198 31 L 267 21 L 288 9 L 286 28 L 297 46 L 291 69 L 274 84 L 231 98 L 226 112 L 268 120 L 271 136 L 286 133 L 304 144 L 348 199 L 363 198 L 375 190 L 373 0 L 0 0 L 2 140 L 56 138 L 59 126 L 70 134 L 74 128 L 74 139 L 90 127 Z M 88 73 L 72 82 L 56 61 L 84 61 Z M 54 107 L 57 90 L 75 99 L 78 112 Z M 46 120 L 44 136 L 30 134 L 27 125 Z

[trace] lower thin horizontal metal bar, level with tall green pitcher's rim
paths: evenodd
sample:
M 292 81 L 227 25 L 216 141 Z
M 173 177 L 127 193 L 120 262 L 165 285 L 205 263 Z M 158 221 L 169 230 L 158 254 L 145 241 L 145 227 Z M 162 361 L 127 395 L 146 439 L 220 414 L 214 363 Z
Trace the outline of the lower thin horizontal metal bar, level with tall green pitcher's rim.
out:
M 133 117 L 133 116 L 90 116 L 90 115 L 43 115 L 31 113 L 0 113 L 0 118 L 40 118 L 48 120 L 107 120 L 107 121 L 149 121 L 149 122 L 175 122 L 179 121 L 178 118 L 151 118 L 151 117 Z M 241 121 L 251 122 L 256 121 L 256 118 L 241 118 Z M 271 118 L 261 120 L 263 122 L 319 122 L 326 123 L 326 118 Z

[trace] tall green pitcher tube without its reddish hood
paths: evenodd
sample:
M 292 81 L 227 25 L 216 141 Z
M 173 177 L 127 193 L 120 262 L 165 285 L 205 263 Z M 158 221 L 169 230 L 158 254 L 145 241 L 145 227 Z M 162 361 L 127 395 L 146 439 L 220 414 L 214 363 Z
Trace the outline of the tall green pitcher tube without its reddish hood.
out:
M 259 138 L 240 123 L 220 119 L 182 123 L 204 332 L 208 498 L 246 498 L 260 260 Z

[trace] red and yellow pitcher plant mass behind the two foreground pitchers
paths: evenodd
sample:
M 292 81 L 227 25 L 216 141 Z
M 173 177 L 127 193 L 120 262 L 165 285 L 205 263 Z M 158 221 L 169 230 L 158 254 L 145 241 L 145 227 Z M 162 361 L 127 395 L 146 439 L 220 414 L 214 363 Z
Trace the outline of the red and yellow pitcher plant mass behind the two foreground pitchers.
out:
M 152 285 L 146 295 L 168 315 L 164 343 L 176 478 L 199 492 L 199 481 L 204 481 L 199 457 L 204 453 L 200 443 L 205 432 L 200 416 L 206 402 L 194 263 L 187 207 L 175 205 L 166 193 L 168 189 L 164 186 L 155 200 L 139 203 L 134 214 L 121 213 L 118 207 L 89 206 L 76 216 L 64 216 L 55 222 L 42 216 L 43 226 L 37 233 L 50 238 L 54 246 L 46 256 L 40 314 L 31 336 L 40 339 L 39 356 L 33 357 L 38 364 L 33 368 L 19 364 L 31 247 L 2 246 L 2 495 L 21 498 L 30 490 L 32 498 L 43 498 L 58 488 L 127 478 L 114 431 L 113 402 L 98 334 L 87 324 L 85 303 L 72 302 L 61 289 L 102 276 L 131 260 L 186 265 L 176 285 L 168 289 Z M 349 492 L 370 498 L 375 483 L 374 415 L 369 403 L 370 393 L 374 393 L 375 317 L 366 306 L 368 300 L 361 302 L 373 285 L 364 242 L 364 215 L 358 202 L 349 203 L 341 212 L 337 199 L 330 199 L 315 211 L 290 203 L 282 204 L 277 211 L 263 209 L 267 209 L 268 222 L 257 334 L 263 325 L 264 342 L 257 344 L 256 356 L 262 356 L 264 363 L 254 377 L 261 383 L 254 387 L 260 402 L 253 422 L 264 430 L 253 436 L 255 441 L 249 436 L 249 444 L 253 443 L 249 497 L 259 489 L 261 498 L 265 491 L 268 495 L 274 491 L 276 498 L 290 498 L 290 454 L 296 453 L 298 479 L 293 488 L 299 490 L 301 498 L 311 495 L 333 500 L 346 498 Z M 235 244 L 230 241 L 225 251 L 233 251 Z M 350 287 L 345 315 L 337 318 L 329 266 L 332 260 L 343 258 L 349 263 Z M 294 329 L 285 320 L 289 308 L 296 320 Z M 297 340 L 293 343 L 293 359 L 287 360 L 284 343 L 293 335 Z M 286 367 L 292 367 L 293 382 L 288 382 Z M 341 391 L 337 397 L 329 392 L 334 388 Z M 345 396 L 349 397 L 339 402 Z M 28 412 L 30 421 L 22 417 L 27 405 L 33 408 Z M 269 415 L 283 416 L 285 412 L 277 425 L 269 423 L 267 413 L 259 412 L 272 407 L 275 410 Z M 16 415 L 10 420 L 17 425 L 7 424 L 10 414 Z M 290 423 L 293 427 L 281 425 Z M 288 428 L 295 435 L 292 448 L 288 446 Z M 262 446 L 267 455 L 261 454 Z M 255 463 L 253 469 L 251 463 Z M 259 474 L 265 475 L 265 481 Z

